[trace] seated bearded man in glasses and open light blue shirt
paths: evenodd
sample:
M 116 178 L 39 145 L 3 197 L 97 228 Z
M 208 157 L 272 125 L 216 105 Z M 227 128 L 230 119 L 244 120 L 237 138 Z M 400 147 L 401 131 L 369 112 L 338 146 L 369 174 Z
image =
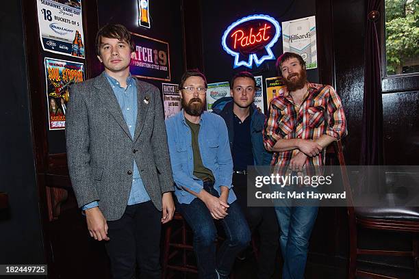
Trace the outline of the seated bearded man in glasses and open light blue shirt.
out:
M 179 83 L 183 109 L 166 120 L 177 209 L 194 233 L 199 278 L 228 278 L 250 231 L 231 189 L 233 160 L 223 118 L 204 111 L 207 81 L 199 70 Z M 216 254 L 219 220 L 226 239 Z

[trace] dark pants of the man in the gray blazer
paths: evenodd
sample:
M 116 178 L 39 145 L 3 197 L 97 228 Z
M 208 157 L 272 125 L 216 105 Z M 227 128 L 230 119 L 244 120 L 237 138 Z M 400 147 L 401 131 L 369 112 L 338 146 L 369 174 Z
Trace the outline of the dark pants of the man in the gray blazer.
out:
M 134 278 L 136 264 L 140 278 L 161 278 L 161 219 L 162 213 L 149 201 L 128 205 L 119 220 L 107 222 L 110 241 L 105 247 L 114 279 Z

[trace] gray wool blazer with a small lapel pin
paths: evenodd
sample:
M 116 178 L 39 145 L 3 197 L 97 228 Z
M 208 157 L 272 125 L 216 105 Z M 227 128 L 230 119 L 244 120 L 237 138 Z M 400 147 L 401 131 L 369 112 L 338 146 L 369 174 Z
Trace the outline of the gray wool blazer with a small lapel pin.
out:
M 68 170 L 79 207 L 99 200 L 106 220 L 122 217 L 136 160 L 158 210 L 162 193 L 174 191 L 160 91 L 138 81 L 134 139 L 112 88 L 99 77 L 71 86 L 66 114 Z

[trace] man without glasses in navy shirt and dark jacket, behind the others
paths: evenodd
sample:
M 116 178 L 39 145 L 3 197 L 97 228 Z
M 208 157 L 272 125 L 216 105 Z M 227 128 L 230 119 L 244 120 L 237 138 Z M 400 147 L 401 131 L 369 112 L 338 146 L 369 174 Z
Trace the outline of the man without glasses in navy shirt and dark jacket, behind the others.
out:
M 234 191 L 251 232 L 257 229 L 260 236 L 257 278 L 268 279 L 274 273 L 279 246 L 275 210 L 272 207 L 247 207 L 247 167 L 270 165 L 272 160 L 272 154 L 264 148 L 265 116 L 253 103 L 255 87 L 255 77 L 250 72 L 238 72 L 230 81 L 231 97 L 218 99 L 212 104 L 212 110 L 227 124 Z

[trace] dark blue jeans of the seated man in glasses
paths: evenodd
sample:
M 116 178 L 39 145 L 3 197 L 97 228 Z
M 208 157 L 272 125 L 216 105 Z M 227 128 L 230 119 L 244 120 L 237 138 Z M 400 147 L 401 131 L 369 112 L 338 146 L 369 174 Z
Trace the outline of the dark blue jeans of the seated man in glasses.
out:
M 218 197 L 218 192 L 212 187 L 214 183 L 204 182 L 204 189 L 212 196 Z M 220 220 L 227 239 L 216 254 L 217 230 L 210 211 L 199 198 L 190 204 L 179 204 L 177 210 L 183 215 L 194 233 L 194 252 L 199 269 L 199 278 L 227 278 L 233 267 L 234 260 L 240 251 L 249 245 L 251 234 L 244 215 L 237 202 L 229 204 L 227 215 Z

